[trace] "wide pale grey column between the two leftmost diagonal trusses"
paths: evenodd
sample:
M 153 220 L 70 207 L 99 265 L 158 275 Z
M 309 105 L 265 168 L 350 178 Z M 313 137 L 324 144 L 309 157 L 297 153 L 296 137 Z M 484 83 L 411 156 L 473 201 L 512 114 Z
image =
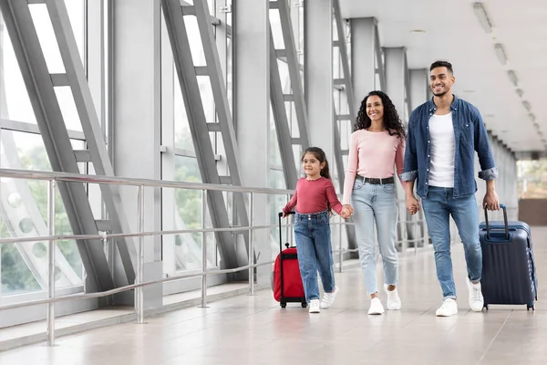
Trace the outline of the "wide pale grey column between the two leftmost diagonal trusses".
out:
M 161 179 L 160 1 L 116 0 L 113 16 L 114 171 Z M 131 230 L 137 231 L 137 189 L 127 187 L 120 193 Z M 145 196 L 145 230 L 160 230 L 160 189 L 146 188 Z M 160 236 L 145 238 L 144 262 L 145 280 L 161 277 Z M 145 287 L 146 308 L 160 305 L 161 299 L 161 285 Z

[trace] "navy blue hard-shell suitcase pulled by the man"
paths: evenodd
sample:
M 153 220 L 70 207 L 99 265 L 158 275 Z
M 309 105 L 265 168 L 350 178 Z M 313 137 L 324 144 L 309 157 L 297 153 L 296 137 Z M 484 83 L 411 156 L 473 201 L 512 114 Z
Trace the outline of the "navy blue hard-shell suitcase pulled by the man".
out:
M 490 304 L 525 304 L 534 309 L 537 300 L 537 278 L 533 259 L 532 237 L 528 224 L 507 221 L 507 209 L 503 209 L 503 221 L 480 223 L 482 247 L 482 276 L 480 285 L 484 307 Z

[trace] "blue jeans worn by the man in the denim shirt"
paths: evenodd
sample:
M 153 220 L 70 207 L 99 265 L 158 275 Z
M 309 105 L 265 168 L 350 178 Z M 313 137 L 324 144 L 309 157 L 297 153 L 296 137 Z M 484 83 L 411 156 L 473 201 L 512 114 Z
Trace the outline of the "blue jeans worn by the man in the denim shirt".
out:
M 428 231 L 435 249 L 435 265 L 442 295 L 456 298 L 450 258 L 449 215 L 458 226 L 458 233 L 465 251 L 468 276 L 471 281 L 480 280 L 482 250 L 479 241 L 479 211 L 475 195 L 454 199 L 454 189 L 429 186 L 428 197 L 422 199 Z

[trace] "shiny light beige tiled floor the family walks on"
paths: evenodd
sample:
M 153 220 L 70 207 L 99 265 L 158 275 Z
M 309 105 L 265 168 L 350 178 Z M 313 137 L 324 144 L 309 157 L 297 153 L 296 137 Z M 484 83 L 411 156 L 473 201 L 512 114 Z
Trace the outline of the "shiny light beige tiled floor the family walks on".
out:
M 533 228 L 539 281 L 547 282 L 547 228 Z M 279 308 L 269 290 L 0 353 L 0 364 L 545 364 L 547 301 L 469 311 L 461 247 L 453 249 L 459 314 L 436 318 L 431 253 L 400 262 L 401 311 L 366 315 L 359 269 L 336 274 L 333 308 Z M 385 296 L 382 295 L 385 302 Z

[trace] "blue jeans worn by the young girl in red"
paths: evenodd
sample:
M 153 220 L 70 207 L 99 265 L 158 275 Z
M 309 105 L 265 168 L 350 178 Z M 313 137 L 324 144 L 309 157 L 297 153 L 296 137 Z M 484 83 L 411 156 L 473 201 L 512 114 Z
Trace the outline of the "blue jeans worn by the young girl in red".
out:
M 335 290 L 335 270 L 330 241 L 330 224 L 327 211 L 316 214 L 294 214 L 294 240 L 305 300 L 319 299 L 317 271 L 325 293 Z

